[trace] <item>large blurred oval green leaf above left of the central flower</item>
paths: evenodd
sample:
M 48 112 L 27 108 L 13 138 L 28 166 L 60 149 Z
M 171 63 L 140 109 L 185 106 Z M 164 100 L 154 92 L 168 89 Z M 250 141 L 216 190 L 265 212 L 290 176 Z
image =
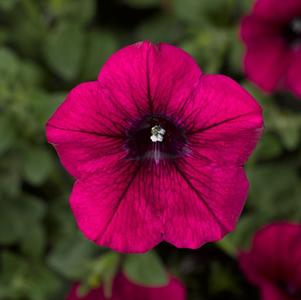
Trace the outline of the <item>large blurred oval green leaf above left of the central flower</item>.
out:
M 63 79 L 77 77 L 83 55 L 84 33 L 76 24 L 59 24 L 47 36 L 44 56 L 49 67 Z

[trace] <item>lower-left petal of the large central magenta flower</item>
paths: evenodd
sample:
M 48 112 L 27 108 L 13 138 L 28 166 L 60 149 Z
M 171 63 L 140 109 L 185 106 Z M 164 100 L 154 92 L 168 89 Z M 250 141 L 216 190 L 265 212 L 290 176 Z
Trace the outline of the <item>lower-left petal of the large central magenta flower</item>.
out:
M 162 201 L 158 172 L 123 160 L 78 180 L 70 204 L 90 240 L 121 252 L 145 252 L 162 240 Z

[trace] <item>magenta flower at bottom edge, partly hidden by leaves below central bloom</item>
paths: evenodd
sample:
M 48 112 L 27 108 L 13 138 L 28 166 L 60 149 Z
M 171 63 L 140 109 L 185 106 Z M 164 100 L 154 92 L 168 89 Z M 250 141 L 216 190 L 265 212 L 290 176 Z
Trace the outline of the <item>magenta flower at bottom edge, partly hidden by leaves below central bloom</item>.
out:
M 102 287 L 91 290 L 87 295 L 80 297 L 79 285 L 75 284 L 66 300 L 185 300 L 184 285 L 172 277 L 166 286 L 145 287 L 129 281 L 123 274 L 114 279 L 112 296 L 106 298 Z

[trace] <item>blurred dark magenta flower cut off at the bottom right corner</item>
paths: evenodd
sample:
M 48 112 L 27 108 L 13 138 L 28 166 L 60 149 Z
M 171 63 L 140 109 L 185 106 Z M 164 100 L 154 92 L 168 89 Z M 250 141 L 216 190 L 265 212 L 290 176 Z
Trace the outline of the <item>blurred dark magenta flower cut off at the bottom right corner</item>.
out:
M 301 225 L 275 223 L 263 228 L 239 261 L 263 300 L 301 299 Z

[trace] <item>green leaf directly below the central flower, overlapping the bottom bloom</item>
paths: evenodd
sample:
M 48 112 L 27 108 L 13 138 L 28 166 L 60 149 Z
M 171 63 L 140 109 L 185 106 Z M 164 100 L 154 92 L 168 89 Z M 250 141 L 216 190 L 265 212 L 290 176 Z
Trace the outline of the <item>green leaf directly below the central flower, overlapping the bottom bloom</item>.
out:
M 145 286 L 166 285 L 168 282 L 165 268 L 154 251 L 127 255 L 123 271 L 133 282 Z

